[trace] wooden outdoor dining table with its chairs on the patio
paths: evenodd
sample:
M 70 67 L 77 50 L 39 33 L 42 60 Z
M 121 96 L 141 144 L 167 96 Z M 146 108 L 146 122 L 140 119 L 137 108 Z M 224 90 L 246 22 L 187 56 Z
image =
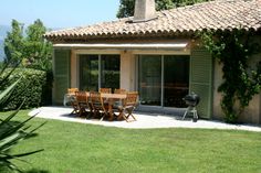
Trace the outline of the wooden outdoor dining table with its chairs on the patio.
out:
M 98 91 L 84 91 L 79 88 L 67 88 L 64 105 L 72 106 L 79 117 L 98 118 L 104 120 L 136 120 L 133 110 L 138 105 L 138 93 L 126 89 L 100 88 Z

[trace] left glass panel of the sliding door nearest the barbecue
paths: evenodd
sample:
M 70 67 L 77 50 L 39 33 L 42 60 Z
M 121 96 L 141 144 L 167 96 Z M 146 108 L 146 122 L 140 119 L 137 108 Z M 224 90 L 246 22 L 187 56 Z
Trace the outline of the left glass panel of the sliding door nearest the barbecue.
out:
M 142 105 L 161 106 L 161 56 L 139 56 L 138 90 Z

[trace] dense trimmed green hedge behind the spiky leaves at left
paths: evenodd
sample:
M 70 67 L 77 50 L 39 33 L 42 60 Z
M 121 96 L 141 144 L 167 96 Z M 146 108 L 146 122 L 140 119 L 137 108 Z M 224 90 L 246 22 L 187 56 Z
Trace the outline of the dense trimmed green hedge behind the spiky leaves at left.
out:
M 7 69 L 4 74 L 10 72 L 12 72 L 12 68 Z M 0 104 L 0 109 L 17 109 L 23 100 L 22 108 L 39 107 L 44 101 L 42 96 L 45 95 L 43 89 L 46 87 L 45 72 L 32 68 L 17 68 L 1 87 L 10 86 L 19 78 L 22 79 L 17 84 L 15 90 L 7 98 L 8 102 Z M 2 76 L 0 76 L 0 79 L 2 79 Z

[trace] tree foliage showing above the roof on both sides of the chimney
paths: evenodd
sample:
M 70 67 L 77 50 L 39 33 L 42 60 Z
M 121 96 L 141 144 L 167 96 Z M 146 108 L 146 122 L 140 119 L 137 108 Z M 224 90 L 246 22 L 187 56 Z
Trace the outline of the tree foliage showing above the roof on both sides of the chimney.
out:
M 206 2 L 210 0 L 155 0 L 156 10 L 168 10 L 177 7 Z M 121 0 L 117 18 L 126 18 L 134 15 L 135 0 Z

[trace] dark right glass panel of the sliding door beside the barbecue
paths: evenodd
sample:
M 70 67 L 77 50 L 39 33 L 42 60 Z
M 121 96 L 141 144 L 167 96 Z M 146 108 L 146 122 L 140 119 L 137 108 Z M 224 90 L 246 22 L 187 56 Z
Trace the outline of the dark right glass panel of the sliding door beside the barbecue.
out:
M 188 94 L 189 56 L 164 56 L 164 106 L 186 107 L 182 98 Z

